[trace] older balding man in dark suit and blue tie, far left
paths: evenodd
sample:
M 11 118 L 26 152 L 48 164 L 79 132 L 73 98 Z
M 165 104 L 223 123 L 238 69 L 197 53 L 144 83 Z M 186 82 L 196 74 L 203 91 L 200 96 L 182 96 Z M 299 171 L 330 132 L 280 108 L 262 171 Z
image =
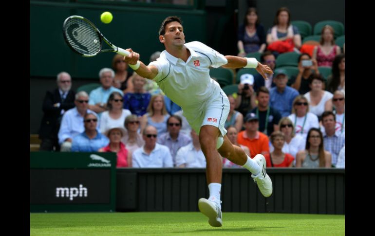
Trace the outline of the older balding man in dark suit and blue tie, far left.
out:
M 54 91 L 47 91 L 43 101 L 43 118 L 40 124 L 40 151 L 59 151 L 57 133 L 61 117 L 65 111 L 75 107 L 75 92 L 71 91 L 72 78 L 69 73 L 57 74 L 57 86 Z

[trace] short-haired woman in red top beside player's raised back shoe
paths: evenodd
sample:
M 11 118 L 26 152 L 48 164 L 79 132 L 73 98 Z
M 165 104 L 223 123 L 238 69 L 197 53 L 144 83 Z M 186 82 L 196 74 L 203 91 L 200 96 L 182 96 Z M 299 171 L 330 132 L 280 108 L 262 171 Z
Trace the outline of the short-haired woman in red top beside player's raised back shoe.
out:
M 270 139 L 274 150 L 264 155 L 267 167 L 292 167 L 294 157 L 282 151 L 285 143 L 284 134 L 281 131 L 274 131 Z

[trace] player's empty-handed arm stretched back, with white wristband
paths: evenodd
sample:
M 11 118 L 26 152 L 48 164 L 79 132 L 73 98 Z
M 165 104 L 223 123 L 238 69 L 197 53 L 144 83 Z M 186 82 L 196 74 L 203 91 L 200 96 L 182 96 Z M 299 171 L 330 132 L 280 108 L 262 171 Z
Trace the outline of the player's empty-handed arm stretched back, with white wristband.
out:
M 228 60 L 228 63 L 223 65 L 224 68 L 255 68 L 265 80 L 268 79 L 266 73 L 273 73 L 271 68 L 269 68 L 267 65 L 261 64 L 255 58 L 246 58 L 232 55 L 226 55 L 225 58 Z

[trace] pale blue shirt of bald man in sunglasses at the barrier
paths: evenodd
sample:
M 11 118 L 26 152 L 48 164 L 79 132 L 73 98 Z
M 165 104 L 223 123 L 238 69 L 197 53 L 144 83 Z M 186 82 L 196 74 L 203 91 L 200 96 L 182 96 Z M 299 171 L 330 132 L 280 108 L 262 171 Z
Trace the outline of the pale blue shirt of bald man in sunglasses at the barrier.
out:
M 161 144 L 155 144 L 155 148 L 150 152 L 150 155 L 145 152 L 144 146 L 136 149 L 132 154 L 132 159 L 134 168 L 173 167 L 169 148 Z

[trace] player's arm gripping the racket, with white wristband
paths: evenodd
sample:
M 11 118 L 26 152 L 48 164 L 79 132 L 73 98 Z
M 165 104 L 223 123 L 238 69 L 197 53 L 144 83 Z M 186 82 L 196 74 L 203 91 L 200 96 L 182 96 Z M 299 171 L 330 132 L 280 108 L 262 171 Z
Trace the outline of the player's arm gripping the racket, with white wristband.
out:
M 136 52 L 133 52 L 131 48 L 126 49 L 131 52 L 131 54 L 124 57 L 125 62 L 140 76 L 148 79 L 153 79 L 158 74 L 158 69 L 156 66 L 146 66 L 142 61 L 139 61 L 140 55 Z M 139 61 L 139 67 L 136 66 Z

